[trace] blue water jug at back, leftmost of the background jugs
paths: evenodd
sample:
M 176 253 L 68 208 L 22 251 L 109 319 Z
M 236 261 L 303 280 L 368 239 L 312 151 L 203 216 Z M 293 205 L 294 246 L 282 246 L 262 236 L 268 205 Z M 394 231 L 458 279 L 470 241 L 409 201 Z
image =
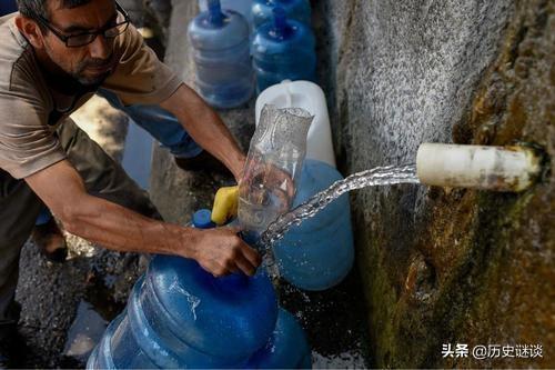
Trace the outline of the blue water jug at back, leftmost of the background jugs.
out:
M 246 102 L 254 90 L 249 49 L 249 23 L 219 0 L 189 24 L 194 49 L 200 94 L 215 108 L 234 108 Z

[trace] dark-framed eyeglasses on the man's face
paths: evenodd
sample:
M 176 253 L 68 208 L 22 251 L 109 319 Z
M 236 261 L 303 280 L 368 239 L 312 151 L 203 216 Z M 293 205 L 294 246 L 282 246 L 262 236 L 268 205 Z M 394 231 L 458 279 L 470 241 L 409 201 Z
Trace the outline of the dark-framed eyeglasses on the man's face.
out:
M 118 1 L 115 1 L 115 10 L 118 13 L 115 24 L 105 26 L 98 31 L 82 32 L 71 36 L 62 34 L 59 30 L 54 29 L 44 17 L 37 14 L 36 19 L 42 26 L 52 31 L 52 33 L 64 42 L 68 48 L 80 48 L 94 41 L 99 34 L 102 34 L 104 39 L 113 39 L 128 30 L 130 23 L 128 12 L 118 3 Z

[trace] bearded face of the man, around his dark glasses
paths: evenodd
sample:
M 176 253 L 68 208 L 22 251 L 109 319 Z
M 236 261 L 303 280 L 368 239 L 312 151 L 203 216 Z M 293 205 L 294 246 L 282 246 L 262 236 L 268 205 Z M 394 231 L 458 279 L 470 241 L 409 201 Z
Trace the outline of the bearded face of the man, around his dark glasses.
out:
M 117 22 L 113 0 L 92 0 L 77 8 L 64 8 L 61 0 L 50 0 L 49 23 L 63 36 L 93 32 Z M 84 86 L 101 83 L 115 68 L 114 39 L 99 34 L 93 42 L 68 48 L 52 31 L 43 32 L 44 51 L 63 71 Z

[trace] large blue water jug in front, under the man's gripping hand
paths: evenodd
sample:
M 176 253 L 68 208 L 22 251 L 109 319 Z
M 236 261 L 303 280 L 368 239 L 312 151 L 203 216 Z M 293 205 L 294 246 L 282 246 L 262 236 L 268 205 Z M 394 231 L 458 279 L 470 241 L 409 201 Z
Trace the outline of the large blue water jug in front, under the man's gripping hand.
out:
M 203 213 L 195 226 L 208 227 Z M 193 260 L 157 256 L 88 368 L 241 368 L 268 343 L 276 319 L 264 269 L 214 278 Z

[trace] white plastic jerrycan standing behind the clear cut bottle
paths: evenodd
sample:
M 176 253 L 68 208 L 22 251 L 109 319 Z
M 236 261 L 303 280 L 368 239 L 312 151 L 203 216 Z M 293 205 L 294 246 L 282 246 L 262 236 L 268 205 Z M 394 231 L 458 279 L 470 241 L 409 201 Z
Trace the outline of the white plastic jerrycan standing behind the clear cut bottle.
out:
M 336 167 L 325 96 L 317 84 L 286 80 L 262 91 L 256 99 L 256 126 L 265 104 L 276 108 L 302 108 L 314 116 L 306 141 L 306 158 Z

